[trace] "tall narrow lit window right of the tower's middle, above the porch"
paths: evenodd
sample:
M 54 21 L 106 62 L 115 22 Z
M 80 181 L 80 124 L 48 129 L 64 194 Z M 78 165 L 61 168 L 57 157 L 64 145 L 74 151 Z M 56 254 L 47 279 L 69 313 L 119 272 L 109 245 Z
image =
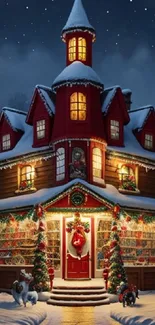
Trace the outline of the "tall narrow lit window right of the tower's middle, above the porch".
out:
M 102 177 L 102 151 L 93 148 L 93 179 Z

